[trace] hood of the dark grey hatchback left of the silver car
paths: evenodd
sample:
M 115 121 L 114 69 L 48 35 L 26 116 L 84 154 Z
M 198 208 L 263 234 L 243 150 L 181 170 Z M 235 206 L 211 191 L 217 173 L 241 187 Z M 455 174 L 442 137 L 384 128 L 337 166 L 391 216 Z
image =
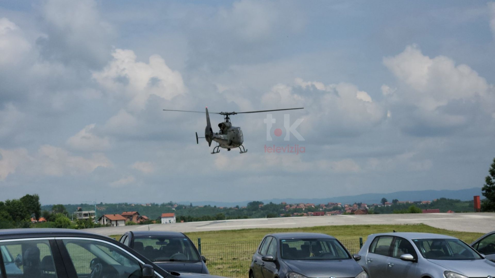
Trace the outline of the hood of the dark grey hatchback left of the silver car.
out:
M 306 277 L 356 277 L 363 269 L 352 259 L 348 260 L 284 260 L 292 271 Z

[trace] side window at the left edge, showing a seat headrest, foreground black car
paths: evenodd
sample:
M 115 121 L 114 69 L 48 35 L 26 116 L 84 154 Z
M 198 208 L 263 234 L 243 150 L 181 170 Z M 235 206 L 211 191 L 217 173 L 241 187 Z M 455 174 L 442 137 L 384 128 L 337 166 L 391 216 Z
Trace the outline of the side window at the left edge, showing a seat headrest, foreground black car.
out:
M 49 240 L 4 241 L 0 251 L 8 278 L 57 277 Z

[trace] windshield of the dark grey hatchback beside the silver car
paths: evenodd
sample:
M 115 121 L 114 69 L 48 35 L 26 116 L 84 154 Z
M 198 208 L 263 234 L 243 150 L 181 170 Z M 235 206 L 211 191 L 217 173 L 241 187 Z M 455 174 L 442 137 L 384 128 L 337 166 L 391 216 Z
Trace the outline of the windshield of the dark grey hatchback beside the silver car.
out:
M 337 239 L 282 239 L 282 259 L 286 260 L 343 260 L 349 254 Z

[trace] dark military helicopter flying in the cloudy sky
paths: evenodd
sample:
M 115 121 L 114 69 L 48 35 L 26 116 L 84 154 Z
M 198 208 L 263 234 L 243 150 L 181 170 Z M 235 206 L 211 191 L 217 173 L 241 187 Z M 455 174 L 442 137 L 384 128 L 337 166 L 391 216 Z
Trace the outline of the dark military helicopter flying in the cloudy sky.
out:
M 187 111 L 187 110 L 170 110 L 163 109 L 163 111 L 178 111 L 178 112 L 191 112 L 191 113 L 205 113 L 206 114 L 206 128 L 204 129 L 204 137 L 198 137 L 198 133 L 196 133 L 196 143 L 199 144 L 199 138 L 204 138 L 208 142 L 208 146 L 211 146 L 211 142 L 215 141 L 218 143 L 213 148 L 211 154 L 219 153 L 220 148 L 225 148 L 228 151 L 233 148 L 239 148 L 241 150 L 240 153 L 247 152 L 247 149 L 244 147 L 244 137 L 243 131 L 240 127 L 233 127 L 230 122 L 231 115 L 237 114 L 247 114 L 247 113 L 261 113 L 261 112 L 271 112 L 271 111 L 282 111 L 282 110 L 296 110 L 296 109 L 304 109 L 304 107 L 299 108 L 288 108 L 288 109 L 274 109 L 274 110 L 261 110 L 261 111 L 248 111 L 248 112 L 211 112 L 212 114 L 220 114 L 223 115 L 224 121 L 218 124 L 220 128 L 219 132 L 213 132 L 210 124 L 210 116 L 208 113 L 208 107 L 205 108 L 205 112 L 201 111 Z

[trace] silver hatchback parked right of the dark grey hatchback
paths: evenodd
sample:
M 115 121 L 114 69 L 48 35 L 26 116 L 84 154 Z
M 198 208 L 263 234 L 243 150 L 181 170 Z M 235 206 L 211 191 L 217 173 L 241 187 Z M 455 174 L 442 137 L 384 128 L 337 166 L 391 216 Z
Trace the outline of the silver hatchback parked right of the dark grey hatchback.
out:
M 370 278 L 491 278 L 495 263 L 463 241 L 421 232 L 377 233 L 359 251 Z

